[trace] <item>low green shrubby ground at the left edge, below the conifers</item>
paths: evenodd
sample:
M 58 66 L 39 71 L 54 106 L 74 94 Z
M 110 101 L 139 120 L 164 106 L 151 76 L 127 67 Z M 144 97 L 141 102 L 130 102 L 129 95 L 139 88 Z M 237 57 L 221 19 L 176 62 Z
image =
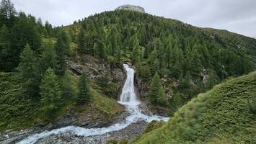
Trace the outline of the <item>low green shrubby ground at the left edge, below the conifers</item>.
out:
M 0 130 L 21 129 L 34 124 L 39 105 L 27 99 L 14 73 L 0 73 Z

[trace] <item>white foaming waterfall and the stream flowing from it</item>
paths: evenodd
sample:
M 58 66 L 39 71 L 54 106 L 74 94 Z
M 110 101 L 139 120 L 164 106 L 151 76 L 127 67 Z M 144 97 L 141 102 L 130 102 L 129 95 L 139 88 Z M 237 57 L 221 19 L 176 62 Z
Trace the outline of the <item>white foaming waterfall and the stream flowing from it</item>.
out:
M 41 133 L 30 135 L 29 137 L 19 141 L 19 144 L 36 143 L 37 140 L 46 138 L 50 135 L 58 135 L 63 132 L 71 132 L 74 135 L 80 135 L 84 137 L 92 135 L 104 135 L 107 132 L 122 130 L 123 128 L 128 127 L 128 125 L 131 125 L 133 122 L 138 122 L 139 120 L 144 120 L 146 122 L 151 122 L 152 120 L 168 121 L 169 117 L 160 117 L 157 115 L 149 116 L 141 113 L 141 110 L 138 108 L 138 105 L 141 104 L 141 102 L 138 100 L 136 96 L 136 91 L 133 84 L 134 70 L 133 68 L 129 68 L 129 66 L 126 64 L 124 64 L 124 67 L 127 72 L 127 78 L 123 86 L 122 94 L 120 95 L 119 103 L 125 106 L 125 109 L 130 113 L 130 115 L 126 117 L 126 119 L 123 122 L 118 122 L 115 125 L 110 125 L 109 127 L 102 128 L 84 128 L 68 126 L 50 131 L 46 130 Z

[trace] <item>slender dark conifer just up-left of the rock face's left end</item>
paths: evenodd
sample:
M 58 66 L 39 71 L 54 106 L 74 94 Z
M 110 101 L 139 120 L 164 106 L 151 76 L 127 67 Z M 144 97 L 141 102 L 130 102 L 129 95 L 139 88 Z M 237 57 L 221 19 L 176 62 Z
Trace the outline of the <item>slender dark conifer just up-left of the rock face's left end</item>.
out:
M 65 44 L 61 37 L 58 37 L 56 42 L 56 74 L 58 76 L 63 76 L 66 71 L 66 61 L 65 61 Z

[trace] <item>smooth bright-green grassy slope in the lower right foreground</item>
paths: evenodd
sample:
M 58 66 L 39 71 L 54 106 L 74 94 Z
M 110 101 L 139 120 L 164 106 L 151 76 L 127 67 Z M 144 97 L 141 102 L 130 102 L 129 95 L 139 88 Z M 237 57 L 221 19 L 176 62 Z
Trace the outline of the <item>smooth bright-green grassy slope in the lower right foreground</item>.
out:
M 255 143 L 256 114 L 248 104 L 255 91 L 256 72 L 219 84 L 133 143 Z

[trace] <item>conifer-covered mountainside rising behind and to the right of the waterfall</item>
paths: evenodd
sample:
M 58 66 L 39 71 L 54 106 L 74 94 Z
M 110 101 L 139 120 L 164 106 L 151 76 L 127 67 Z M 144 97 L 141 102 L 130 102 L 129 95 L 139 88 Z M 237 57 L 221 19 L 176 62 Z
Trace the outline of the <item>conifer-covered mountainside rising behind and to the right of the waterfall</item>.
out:
M 226 78 L 256 68 L 255 39 L 151 14 L 102 12 L 62 28 L 77 44 L 76 55 L 133 63 L 141 99 L 149 101 L 151 78 L 159 73 L 169 114 Z

